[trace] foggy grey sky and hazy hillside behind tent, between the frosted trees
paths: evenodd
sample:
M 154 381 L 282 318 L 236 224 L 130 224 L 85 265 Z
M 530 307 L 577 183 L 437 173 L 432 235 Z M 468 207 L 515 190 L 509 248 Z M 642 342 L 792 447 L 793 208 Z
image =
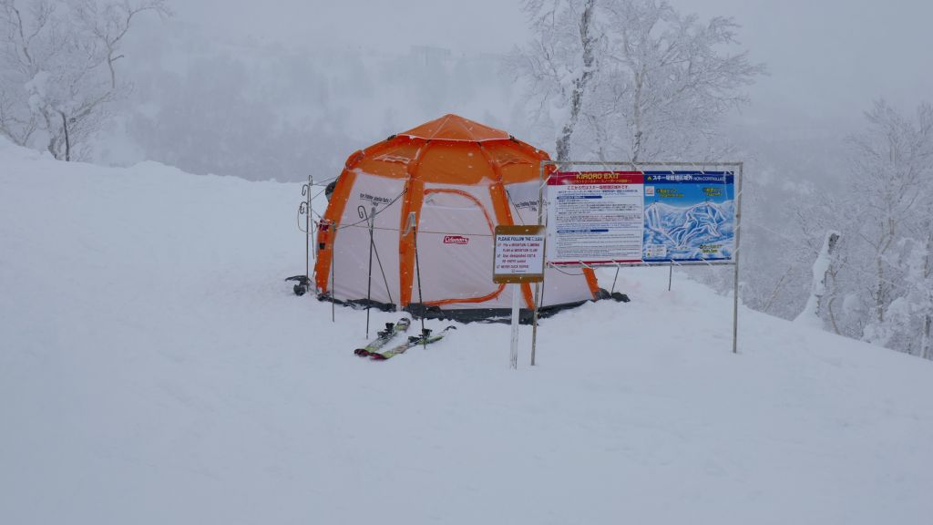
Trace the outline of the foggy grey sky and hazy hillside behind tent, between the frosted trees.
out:
M 500 60 L 531 33 L 518 2 L 173 1 L 140 17 L 120 64 L 134 86 L 103 163 L 149 159 L 250 179 L 333 177 L 355 149 L 444 113 L 536 141 Z M 843 139 L 884 97 L 933 93 L 925 2 L 672 2 L 733 17 L 767 64 L 725 133 L 777 177 L 841 176 Z M 263 140 L 252 137 L 262 136 Z M 179 139 L 183 142 L 178 144 Z M 754 172 L 755 170 L 750 170 Z

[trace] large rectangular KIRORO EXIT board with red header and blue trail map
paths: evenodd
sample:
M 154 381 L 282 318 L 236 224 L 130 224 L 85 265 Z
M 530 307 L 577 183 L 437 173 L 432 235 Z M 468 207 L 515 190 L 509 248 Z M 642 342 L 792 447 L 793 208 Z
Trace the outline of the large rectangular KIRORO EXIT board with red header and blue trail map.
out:
M 548 262 L 731 262 L 729 171 L 558 172 L 548 179 Z

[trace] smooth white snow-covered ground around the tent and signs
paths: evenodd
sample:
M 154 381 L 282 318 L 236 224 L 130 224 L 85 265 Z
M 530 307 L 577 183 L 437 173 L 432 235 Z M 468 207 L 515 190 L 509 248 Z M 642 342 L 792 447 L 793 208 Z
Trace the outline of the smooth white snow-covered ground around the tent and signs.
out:
M 0 522 L 933 519 L 933 363 L 746 309 L 732 355 L 731 299 L 663 269 L 534 368 L 486 324 L 360 360 L 365 312 L 282 280 L 298 201 L 0 141 Z

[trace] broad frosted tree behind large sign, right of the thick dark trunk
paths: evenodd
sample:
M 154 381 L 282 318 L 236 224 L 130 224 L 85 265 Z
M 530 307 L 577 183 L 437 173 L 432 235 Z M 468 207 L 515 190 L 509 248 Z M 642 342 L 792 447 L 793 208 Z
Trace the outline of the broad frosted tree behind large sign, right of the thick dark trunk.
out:
M 607 10 L 619 31 L 610 53 L 615 67 L 602 86 L 608 91 L 594 100 L 604 112 L 615 109 L 600 149 L 633 161 L 715 157 L 722 118 L 746 102 L 743 88 L 764 73 L 747 52 L 729 51 L 738 24 L 721 17 L 703 23 L 655 0 L 619 0 Z

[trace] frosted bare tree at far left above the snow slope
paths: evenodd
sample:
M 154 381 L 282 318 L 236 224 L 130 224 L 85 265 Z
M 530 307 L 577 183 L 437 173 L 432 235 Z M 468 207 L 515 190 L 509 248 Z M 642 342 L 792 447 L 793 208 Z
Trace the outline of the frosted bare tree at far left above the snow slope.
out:
M 144 11 L 169 13 L 165 0 L 0 0 L 0 133 L 28 145 L 42 132 L 71 160 L 125 88 L 120 47 Z

